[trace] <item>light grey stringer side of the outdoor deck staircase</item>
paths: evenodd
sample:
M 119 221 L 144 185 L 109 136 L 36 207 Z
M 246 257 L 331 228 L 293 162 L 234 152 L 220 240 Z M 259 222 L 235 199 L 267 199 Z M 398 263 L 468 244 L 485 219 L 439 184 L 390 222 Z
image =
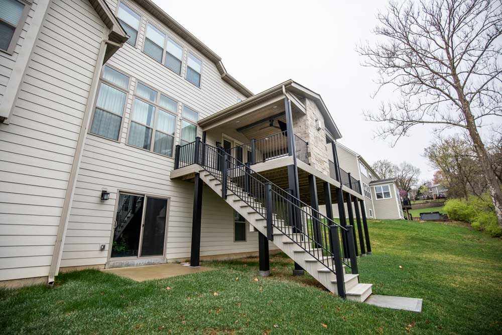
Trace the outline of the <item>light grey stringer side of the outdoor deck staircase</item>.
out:
M 200 178 L 204 181 L 204 183 L 216 192 L 216 194 L 221 195 L 221 182 L 204 168 L 199 167 L 198 170 Z M 252 207 L 247 205 L 245 201 L 240 199 L 230 190 L 227 191 L 227 198 L 224 200 L 230 205 L 230 207 L 242 215 L 257 231 L 265 236 L 267 235 L 266 219 Z M 330 269 L 307 253 L 305 248 L 301 245 L 293 242 L 293 240 L 291 240 L 286 234 L 280 232 L 276 228 L 274 228 L 273 234 L 274 245 L 298 263 L 326 289 L 338 295 L 336 275 Z M 371 294 L 372 284 L 359 283 L 359 275 L 345 273 L 345 266 L 343 266 L 343 272 L 346 298 L 354 301 L 364 301 Z

